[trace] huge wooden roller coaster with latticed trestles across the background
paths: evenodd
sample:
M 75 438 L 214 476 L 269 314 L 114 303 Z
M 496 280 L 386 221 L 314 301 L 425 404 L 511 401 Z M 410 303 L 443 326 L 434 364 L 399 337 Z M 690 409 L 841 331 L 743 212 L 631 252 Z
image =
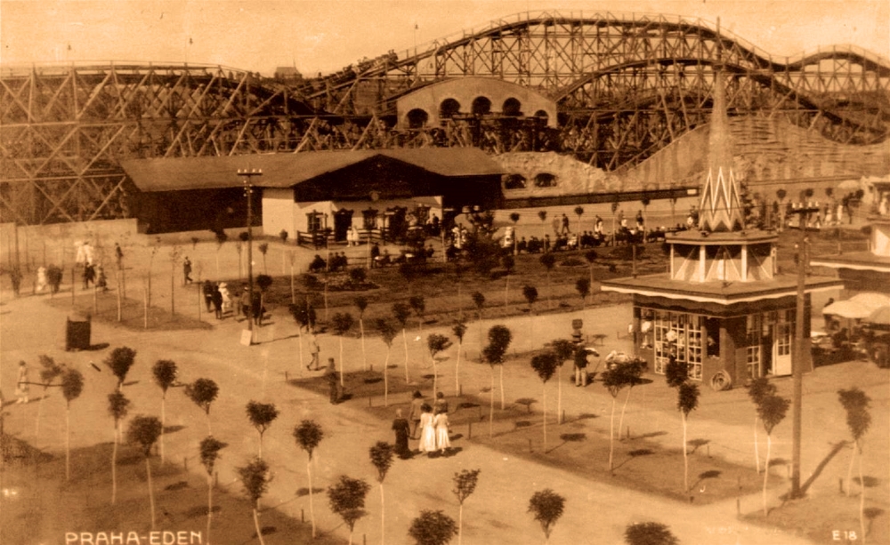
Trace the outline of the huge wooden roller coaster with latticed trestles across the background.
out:
M 476 146 L 616 169 L 707 123 L 718 67 L 731 116 L 782 117 L 851 145 L 890 132 L 890 61 L 854 46 L 777 58 L 702 20 L 521 13 L 298 83 L 198 65 L 0 67 L 0 215 L 126 216 L 134 188 L 119 162 L 130 157 Z M 398 98 L 465 76 L 554 100 L 558 128 L 465 112 L 396 127 Z

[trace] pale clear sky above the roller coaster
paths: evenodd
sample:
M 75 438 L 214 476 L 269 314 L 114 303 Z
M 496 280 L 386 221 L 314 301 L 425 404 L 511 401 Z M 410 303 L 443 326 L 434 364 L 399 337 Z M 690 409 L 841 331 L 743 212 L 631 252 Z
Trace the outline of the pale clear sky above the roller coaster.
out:
M 271 76 L 363 57 L 519 12 L 664 13 L 715 22 L 777 56 L 855 44 L 890 58 L 890 0 L 0 0 L 0 65 L 132 60 Z

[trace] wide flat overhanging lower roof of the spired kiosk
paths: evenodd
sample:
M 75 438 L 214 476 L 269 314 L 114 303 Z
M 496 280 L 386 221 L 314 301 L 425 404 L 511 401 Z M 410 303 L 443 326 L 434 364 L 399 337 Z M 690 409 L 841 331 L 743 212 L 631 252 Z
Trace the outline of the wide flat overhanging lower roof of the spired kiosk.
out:
M 807 293 L 843 287 L 844 283 L 832 277 L 806 277 Z M 603 280 L 604 292 L 637 293 L 651 297 L 666 297 L 682 301 L 714 302 L 732 305 L 740 302 L 776 299 L 797 293 L 797 277 L 777 275 L 769 280 L 755 282 L 682 282 L 671 280 L 670 275 L 646 275 L 636 278 Z

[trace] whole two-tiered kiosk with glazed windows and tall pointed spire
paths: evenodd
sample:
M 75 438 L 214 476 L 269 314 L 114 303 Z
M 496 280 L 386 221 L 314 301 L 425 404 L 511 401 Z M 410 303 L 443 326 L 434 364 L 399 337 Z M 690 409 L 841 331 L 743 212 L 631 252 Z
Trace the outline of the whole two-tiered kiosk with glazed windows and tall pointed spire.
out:
M 761 376 L 791 374 L 797 275 L 779 272 L 775 231 L 745 225 L 732 171 L 721 72 L 714 95 L 699 228 L 667 235 L 666 273 L 603 281 L 602 289 L 633 294 L 635 353 L 650 369 L 665 373 L 673 353 L 688 365 L 692 380 L 723 389 Z M 811 293 L 840 285 L 830 277 L 806 277 L 804 316 L 810 316 Z M 809 336 L 806 320 L 805 371 L 812 370 Z

